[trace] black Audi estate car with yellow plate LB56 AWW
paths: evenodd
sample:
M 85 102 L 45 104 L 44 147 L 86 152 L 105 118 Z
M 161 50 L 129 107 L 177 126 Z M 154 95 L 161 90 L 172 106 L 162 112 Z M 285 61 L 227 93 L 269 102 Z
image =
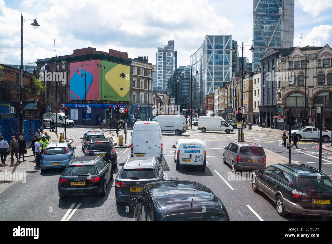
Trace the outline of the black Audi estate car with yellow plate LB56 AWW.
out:
M 107 184 L 112 179 L 112 167 L 105 157 L 75 157 L 59 178 L 59 197 L 90 194 L 105 196 Z

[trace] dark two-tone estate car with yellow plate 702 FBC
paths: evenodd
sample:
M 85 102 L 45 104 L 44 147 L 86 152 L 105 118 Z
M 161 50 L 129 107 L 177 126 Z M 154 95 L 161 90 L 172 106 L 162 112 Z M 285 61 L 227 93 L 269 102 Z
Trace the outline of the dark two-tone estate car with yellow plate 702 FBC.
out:
M 254 170 L 252 189 L 272 199 L 280 215 L 332 216 L 332 181 L 309 165 L 277 163 Z

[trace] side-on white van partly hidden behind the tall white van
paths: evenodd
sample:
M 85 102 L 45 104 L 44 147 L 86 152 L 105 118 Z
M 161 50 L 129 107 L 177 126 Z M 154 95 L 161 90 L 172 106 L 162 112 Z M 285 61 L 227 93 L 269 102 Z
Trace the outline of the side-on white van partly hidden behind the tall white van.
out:
M 186 118 L 183 115 L 158 115 L 152 121 L 158 122 L 161 132 L 181 135 L 187 131 Z

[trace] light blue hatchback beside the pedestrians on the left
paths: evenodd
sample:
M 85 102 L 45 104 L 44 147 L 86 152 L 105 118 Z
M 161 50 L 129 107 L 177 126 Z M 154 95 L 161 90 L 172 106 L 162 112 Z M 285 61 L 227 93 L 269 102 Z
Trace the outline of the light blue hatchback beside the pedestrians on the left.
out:
M 74 149 L 69 143 L 48 144 L 41 154 L 41 172 L 46 169 L 65 168 L 75 157 Z

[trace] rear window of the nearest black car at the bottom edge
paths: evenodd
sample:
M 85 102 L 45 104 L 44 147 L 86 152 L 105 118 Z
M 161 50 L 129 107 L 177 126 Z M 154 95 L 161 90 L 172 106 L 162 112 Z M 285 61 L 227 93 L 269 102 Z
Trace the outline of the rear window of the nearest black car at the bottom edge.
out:
M 161 221 L 228 221 L 228 219 L 221 213 L 189 213 L 168 215 Z

